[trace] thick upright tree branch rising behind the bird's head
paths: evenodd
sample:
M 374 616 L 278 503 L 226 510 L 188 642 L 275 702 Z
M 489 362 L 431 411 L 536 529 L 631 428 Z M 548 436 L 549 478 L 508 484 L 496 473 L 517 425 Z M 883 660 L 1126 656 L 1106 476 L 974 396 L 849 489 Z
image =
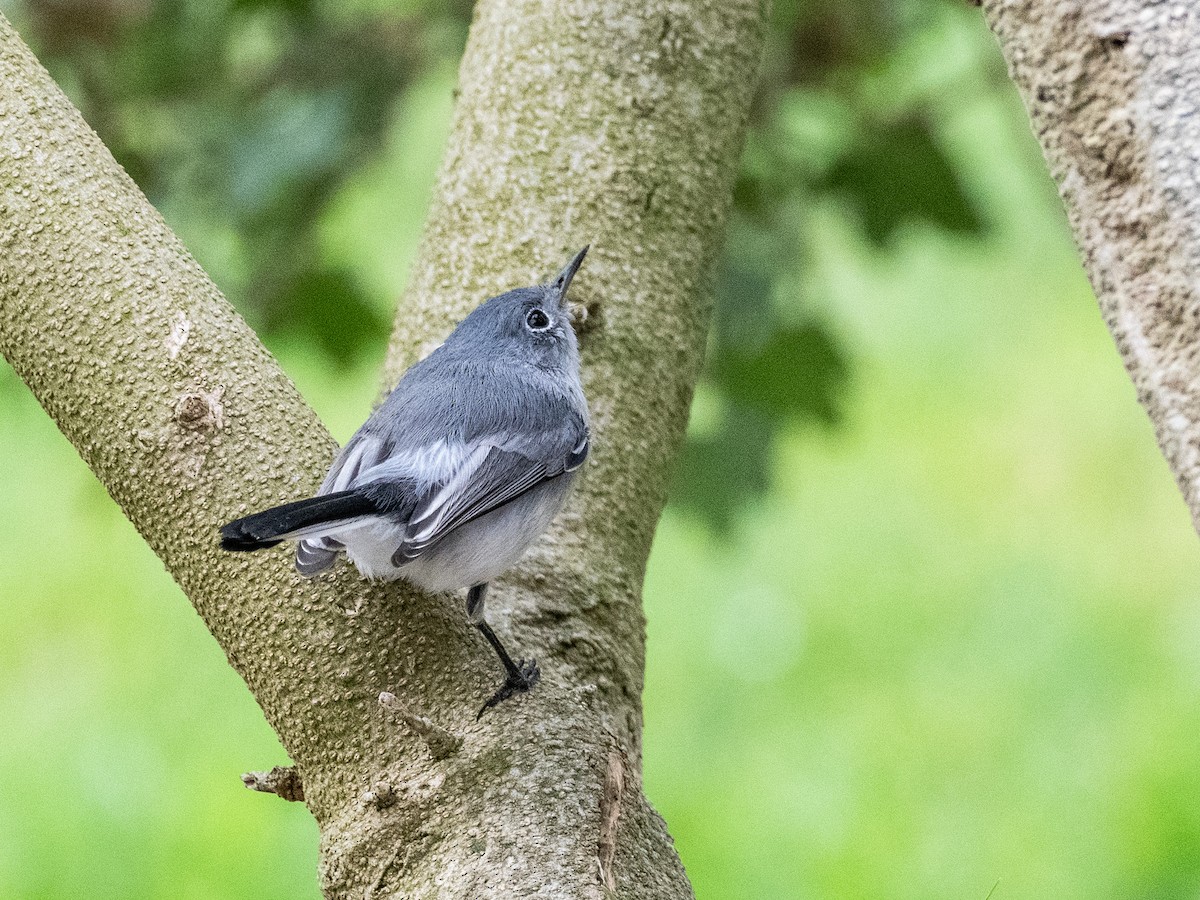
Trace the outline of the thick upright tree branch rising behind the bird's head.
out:
M 559 527 L 497 605 L 569 683 L 598 686 L 635 755 L 642 576 L 702 360 L 761 7 L 479 4 L 386 364 L 390 383 L 480 298 L 544 280 L 592 245 L 571 294 L 589 311 L 593 454 Z

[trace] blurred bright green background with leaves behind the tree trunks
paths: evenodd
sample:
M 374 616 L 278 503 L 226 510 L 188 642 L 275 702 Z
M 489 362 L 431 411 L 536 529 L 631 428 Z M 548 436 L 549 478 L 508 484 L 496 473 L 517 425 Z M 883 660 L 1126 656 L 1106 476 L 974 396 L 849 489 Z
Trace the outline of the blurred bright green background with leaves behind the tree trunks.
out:
M 0 10 L 347 438 L 469 4 Z M 697 894 L 1200 896 L 1200 544 L 978 10 L 776 2 L 718 299 L 646 592 Z M 0 896 L 316 898 L 216 643 L 6 367 L 0 425 Z

